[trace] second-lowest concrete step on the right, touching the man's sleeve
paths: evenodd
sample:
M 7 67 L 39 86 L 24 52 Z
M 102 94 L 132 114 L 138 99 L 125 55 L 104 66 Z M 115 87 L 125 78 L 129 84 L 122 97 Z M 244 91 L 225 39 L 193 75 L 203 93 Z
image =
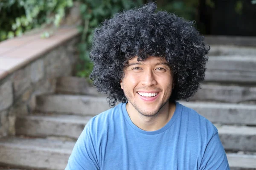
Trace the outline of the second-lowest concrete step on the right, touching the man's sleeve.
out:
M 225 150 L 256 151 L 256 127 L 215 125 Z

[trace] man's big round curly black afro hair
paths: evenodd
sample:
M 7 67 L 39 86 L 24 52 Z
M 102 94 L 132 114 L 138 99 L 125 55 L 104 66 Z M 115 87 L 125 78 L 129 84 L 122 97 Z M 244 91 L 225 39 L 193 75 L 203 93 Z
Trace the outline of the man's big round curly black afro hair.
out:
M 155 3 L 115 14 L 94 31 L 90 79 L 99 92 L 108 94 L 111 106 L 127 102 L 120 86 L 123 68 L 137 56 L 165 57 L 174 73 L 175 86 L 169 100 L 189 100 L 204 80 L 209 46 L 204 37 L 175 14 L 157 11 Z

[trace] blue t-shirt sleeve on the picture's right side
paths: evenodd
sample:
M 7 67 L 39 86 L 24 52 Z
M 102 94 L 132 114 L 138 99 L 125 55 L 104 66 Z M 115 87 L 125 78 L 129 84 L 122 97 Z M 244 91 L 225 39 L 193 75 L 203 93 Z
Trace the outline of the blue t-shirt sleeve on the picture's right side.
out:
M 218 132 L 212 136 L 207 144 L 199 170 L 230 170 Z

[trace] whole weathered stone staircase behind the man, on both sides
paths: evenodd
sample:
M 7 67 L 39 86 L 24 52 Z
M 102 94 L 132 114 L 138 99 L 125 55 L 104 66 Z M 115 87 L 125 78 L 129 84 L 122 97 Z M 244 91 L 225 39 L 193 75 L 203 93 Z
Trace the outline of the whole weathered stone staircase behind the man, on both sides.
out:
M 180 103 L 215 124 L 232 170 L 256 170 L 256 49 L 211 48 L 202 89 Z M 86 84 L 63 77 L 55 94 L 37 96 L 36 111 L 17 117 L 16 136 L 0 139 L 2 169 L 65 168 L 88 120 L 110 108 L 106 96 Z

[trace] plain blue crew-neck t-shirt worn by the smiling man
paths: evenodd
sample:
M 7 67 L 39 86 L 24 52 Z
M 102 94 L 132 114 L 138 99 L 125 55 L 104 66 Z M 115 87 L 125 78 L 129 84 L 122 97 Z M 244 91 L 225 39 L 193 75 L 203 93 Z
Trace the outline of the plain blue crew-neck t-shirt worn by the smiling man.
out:
M 134 125 L 120 103 L 88 122 L 65 170 L 230 170 L 211 122 L 176 102 L 161 129 Z

